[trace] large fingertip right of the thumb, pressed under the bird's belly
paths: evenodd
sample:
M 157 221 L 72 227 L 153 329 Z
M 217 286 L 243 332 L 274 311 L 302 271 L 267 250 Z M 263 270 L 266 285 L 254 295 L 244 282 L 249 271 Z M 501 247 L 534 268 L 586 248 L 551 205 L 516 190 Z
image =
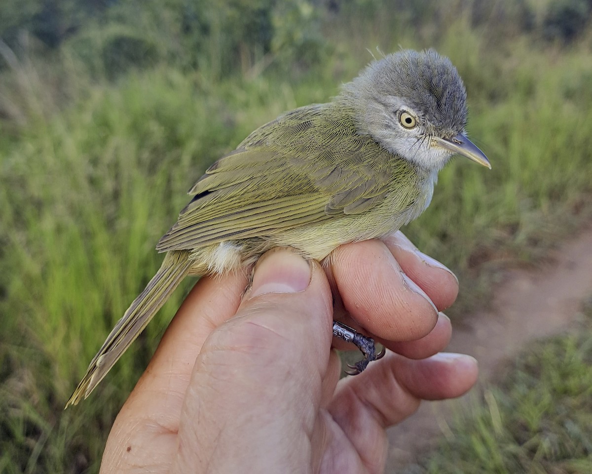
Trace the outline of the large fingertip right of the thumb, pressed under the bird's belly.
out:
M 379 338 L 416 340 L 436 325 L 436 306 L 381 241 L 342 245 L 331 266 L 345 310 Z

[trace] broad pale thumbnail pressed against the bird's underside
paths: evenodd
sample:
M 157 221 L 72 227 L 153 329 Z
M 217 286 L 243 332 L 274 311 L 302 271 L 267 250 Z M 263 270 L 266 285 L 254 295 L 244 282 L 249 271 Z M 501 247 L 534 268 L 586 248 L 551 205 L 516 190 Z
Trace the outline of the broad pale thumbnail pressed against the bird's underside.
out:
M 276 248 L 264 254 L 253 272 L 250 297 L 303 292 L 311 277 L 308 262 L 288 248 Z

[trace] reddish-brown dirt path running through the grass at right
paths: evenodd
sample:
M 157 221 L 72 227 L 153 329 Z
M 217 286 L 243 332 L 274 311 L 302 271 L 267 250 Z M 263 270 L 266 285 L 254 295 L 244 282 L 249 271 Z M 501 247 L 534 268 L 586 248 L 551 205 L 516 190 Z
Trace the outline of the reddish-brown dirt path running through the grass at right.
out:
M 509 271 L 496 289 L 492 309 L 467 317 L 461 327 L 454 328 L 447 350 L 476 357 L 481 382 L 525 342 L 569 326 L 583 299 L 590 297 L 592 228 L 554 253 L 553 263 L 536 272 Z M 424 402 L 413 417 L 391 428 L 387 472 L 413 463 L 418 453 L 435 444 L 451 418 L 453 403 L 458 402 Z

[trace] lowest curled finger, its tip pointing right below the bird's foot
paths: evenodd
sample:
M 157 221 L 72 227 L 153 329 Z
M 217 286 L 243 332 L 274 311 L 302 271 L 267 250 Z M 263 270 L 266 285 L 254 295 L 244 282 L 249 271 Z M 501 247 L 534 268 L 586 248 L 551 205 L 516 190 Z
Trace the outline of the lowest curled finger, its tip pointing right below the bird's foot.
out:
M 410 360 L 388 353 L 362 374 L 340 380 L 330 413 L 368 471 L 381 472 L 385 428 L 413 414 L 422 399 L 460 396 L 476 380 L 477 361 L 468 355 Z

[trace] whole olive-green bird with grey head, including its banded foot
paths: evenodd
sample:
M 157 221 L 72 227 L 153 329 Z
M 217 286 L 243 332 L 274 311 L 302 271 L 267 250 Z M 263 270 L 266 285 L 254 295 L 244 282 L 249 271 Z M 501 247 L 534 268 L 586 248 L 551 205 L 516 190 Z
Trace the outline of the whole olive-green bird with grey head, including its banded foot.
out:
M 88 397 L 186 276 L 247 269 L 289 246 L 327 262 L 339 245 L 380 238 L 416 219 L 453 155 L 491 169 L 466 136 L 466 89 L 448 57 L 400 50 L 375 59 L 323 104 L 288 111 L 215 161 L 157 243 L 160 269 L 131 303 L 66 404 Z M 365 355 L 371 338 L 336 323 Z

